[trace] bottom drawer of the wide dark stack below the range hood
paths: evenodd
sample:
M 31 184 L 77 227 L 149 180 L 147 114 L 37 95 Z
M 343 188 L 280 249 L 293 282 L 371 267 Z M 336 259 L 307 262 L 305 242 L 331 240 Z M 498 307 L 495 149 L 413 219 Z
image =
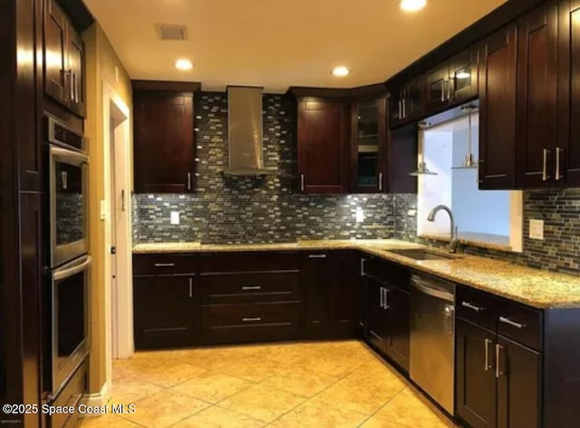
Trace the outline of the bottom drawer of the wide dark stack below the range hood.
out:
M 204 342 L 234 344 L 298 338 L 297 303 L 219 305 L 201 308 Z

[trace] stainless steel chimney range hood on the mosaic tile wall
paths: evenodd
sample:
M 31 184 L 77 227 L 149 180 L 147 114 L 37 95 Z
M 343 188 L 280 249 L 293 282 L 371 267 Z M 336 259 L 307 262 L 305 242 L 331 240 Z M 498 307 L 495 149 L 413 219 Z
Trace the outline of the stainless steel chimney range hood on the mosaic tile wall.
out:
M 262 88 L 227 87 L 227 176 L 275 174 L 264 168 Z

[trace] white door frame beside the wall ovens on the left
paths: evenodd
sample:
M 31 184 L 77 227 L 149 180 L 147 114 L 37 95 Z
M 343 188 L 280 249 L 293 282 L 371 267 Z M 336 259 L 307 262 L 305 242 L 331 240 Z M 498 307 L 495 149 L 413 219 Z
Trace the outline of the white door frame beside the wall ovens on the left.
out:
M 129 358 L 134 352 L 131 263 L 131 112 L 109 83 L 102 83 L 103 174 L 105 215 L 105 357 L 107 383 L 111 383 L 112 359 Z M 111 122 L 114 131 L 111 132 Z M 114 141 L 111 141 L 111 135 Z M 111 156 L 115 162 L 115 189 L 111 195 Z M 124 200 L 121 200 L 121 195 Z M 112 198 L 115 203 L 111 203 Z M 104 203 L 103 203 L 104 202 Z M 111 212 L 108 207 L 114 207 Z M 124 208 L 124 210 L 123 210 Z M 111 221 L 116 228 L 117 287 L 112 289 Z

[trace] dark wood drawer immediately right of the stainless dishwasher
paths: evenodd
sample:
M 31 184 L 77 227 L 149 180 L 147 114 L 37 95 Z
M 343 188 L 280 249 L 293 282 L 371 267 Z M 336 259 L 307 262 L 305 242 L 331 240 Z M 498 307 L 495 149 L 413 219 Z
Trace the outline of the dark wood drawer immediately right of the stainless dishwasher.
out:
M 498 317 L 496 297 L 473 288 L 457 287 L 455 301 L 457 316 L 489 330 L 496 330 Z

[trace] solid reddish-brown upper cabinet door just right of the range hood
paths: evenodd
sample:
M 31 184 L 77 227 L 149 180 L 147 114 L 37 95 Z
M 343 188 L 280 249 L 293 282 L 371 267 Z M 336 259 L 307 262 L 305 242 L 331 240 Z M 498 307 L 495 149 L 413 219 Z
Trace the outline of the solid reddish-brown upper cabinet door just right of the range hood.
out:
M 303 193 L 343 193 L 349 116 L 343 100 L 298 102 L 298 174 Z

